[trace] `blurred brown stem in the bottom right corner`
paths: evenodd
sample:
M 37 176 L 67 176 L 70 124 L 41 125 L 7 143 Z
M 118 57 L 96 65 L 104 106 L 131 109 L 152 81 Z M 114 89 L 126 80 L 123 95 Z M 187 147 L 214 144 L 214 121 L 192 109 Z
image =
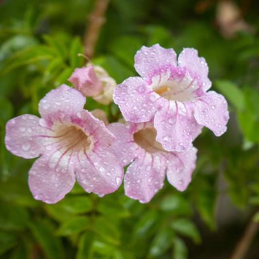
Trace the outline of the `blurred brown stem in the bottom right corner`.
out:
M 230 259 L 243 259 L 254 240 L 254 237 L 259 229 L 259 223 L 254 222 L 253 219 L 247 225 L 240 241 L 237 243 Z

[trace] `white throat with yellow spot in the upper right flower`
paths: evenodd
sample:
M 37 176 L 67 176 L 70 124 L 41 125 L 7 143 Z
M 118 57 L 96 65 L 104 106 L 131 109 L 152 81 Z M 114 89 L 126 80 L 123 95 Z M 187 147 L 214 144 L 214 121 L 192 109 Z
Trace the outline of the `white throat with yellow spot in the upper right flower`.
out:
M 199 86 L 189 74 L 174 76 L 174 78 L 170 78 L 170 74 L 166 74 L 154 78 L 151 88 L 167 100 L 186 102 L 195 98 L 193 91 Z

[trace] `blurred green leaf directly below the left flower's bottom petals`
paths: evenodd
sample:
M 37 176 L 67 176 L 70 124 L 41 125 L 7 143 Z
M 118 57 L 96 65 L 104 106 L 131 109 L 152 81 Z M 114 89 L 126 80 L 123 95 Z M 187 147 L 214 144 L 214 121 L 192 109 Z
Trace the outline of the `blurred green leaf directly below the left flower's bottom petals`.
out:
M 67 196 L 56 203 L 70 213 L 85 213 L 93 209 L 93 202 L 87 196 Z

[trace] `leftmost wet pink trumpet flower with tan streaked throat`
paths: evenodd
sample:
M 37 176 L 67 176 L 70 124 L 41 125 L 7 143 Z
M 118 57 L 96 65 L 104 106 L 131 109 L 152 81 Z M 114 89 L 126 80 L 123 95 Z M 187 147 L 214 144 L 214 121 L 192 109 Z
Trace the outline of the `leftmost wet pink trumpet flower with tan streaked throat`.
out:
M 100 195 L 121 185 L 121 163 L 106 148 L 115 136 L 90 112 L 86 98 L 62 85 L 39 103 L 41 118 L 25 114 L 6 124 L 6 148 L 14 155 L 35 158 L 29 186 L 35 199 L 56 203 L 75 180 L 87 191 Z

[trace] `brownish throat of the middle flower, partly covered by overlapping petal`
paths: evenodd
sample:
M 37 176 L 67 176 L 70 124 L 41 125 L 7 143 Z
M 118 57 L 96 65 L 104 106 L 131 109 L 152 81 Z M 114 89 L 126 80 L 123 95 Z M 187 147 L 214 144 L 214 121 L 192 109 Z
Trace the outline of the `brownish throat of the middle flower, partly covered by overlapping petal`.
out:
M 148 153 L 155 153 L 155 152 L 167 152 L 163 149 L 162 144 L 156 141 L 156 129 L 146 128 L 139 130 L 138 132 L 134 133 L 133 139 L 135 143 L 137 143 L 141 148 L 143 148 Z

